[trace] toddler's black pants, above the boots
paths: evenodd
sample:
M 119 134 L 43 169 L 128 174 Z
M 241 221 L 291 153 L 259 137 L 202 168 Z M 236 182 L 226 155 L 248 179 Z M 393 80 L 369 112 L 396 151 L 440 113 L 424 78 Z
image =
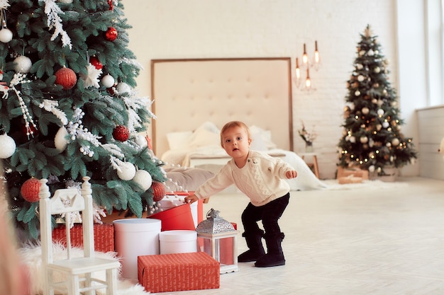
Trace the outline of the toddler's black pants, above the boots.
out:
M 251 203 L 248 203 L 242 213 L 242 224 L 245 235 L 262 233 L 262 230 L 257 226 L 257 221 L 262 220 L 265 236 L 280 236 L 281 229 L 277 221 L 284 213 L 285 208 L 287 208 L 289 198 L 290 193 L 288 192 L 287 195 L 274 199 L 272 202 L 260 207 L 255 207 Z

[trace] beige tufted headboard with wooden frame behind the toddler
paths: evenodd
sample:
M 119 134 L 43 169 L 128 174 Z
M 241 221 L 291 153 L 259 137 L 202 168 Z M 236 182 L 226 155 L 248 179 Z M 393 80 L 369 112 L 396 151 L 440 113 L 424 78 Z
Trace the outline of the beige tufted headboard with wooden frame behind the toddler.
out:
M 291 81 L 290 57 L 153 59 L 155 154 L 167 151 L 169 132 L 231 120 L 271 130 L 278 148 L 293 150 Z

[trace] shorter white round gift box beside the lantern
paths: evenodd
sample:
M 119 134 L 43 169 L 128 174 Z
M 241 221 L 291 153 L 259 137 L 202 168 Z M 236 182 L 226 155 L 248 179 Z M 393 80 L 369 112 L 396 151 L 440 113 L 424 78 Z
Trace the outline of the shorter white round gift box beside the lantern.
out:
M 160 254 L 197 252 L 197 232 L 189 230 L 162 231 L 159 234 Z

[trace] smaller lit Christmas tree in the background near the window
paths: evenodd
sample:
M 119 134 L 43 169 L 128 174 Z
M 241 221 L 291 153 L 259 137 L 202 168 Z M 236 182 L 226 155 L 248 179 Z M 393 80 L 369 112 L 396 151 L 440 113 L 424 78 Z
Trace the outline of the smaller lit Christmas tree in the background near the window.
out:
M 416 158 L 411 138 L 401 133 L 404 122 L 399 117 L 396 91 L 389 83 L 387 64 L 377 36 L 367 25 L 347 82 L 338 166 L 385 175 L 384 168 L 399 168 Z

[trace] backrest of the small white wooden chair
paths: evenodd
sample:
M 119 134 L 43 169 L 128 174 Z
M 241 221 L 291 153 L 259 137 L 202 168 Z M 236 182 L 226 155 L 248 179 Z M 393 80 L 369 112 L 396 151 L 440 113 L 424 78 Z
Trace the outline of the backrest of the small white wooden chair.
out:
M 40 180 L 40 240 L 42 260 L 45 264 L 54 261 L 52 255 L 52 215 L 61 215 L 65 219 L 67 238 L 67 259 L 72 259 L 70 228 L 72 216 L 82 213 L 82 231 L 84 257 L 94 255 L 94 228 L 92 212 L 91 183 L 89 177 L 83 178 L 82 190 L 77 188 L 59 189 L 50 197 L 47 179 Z

